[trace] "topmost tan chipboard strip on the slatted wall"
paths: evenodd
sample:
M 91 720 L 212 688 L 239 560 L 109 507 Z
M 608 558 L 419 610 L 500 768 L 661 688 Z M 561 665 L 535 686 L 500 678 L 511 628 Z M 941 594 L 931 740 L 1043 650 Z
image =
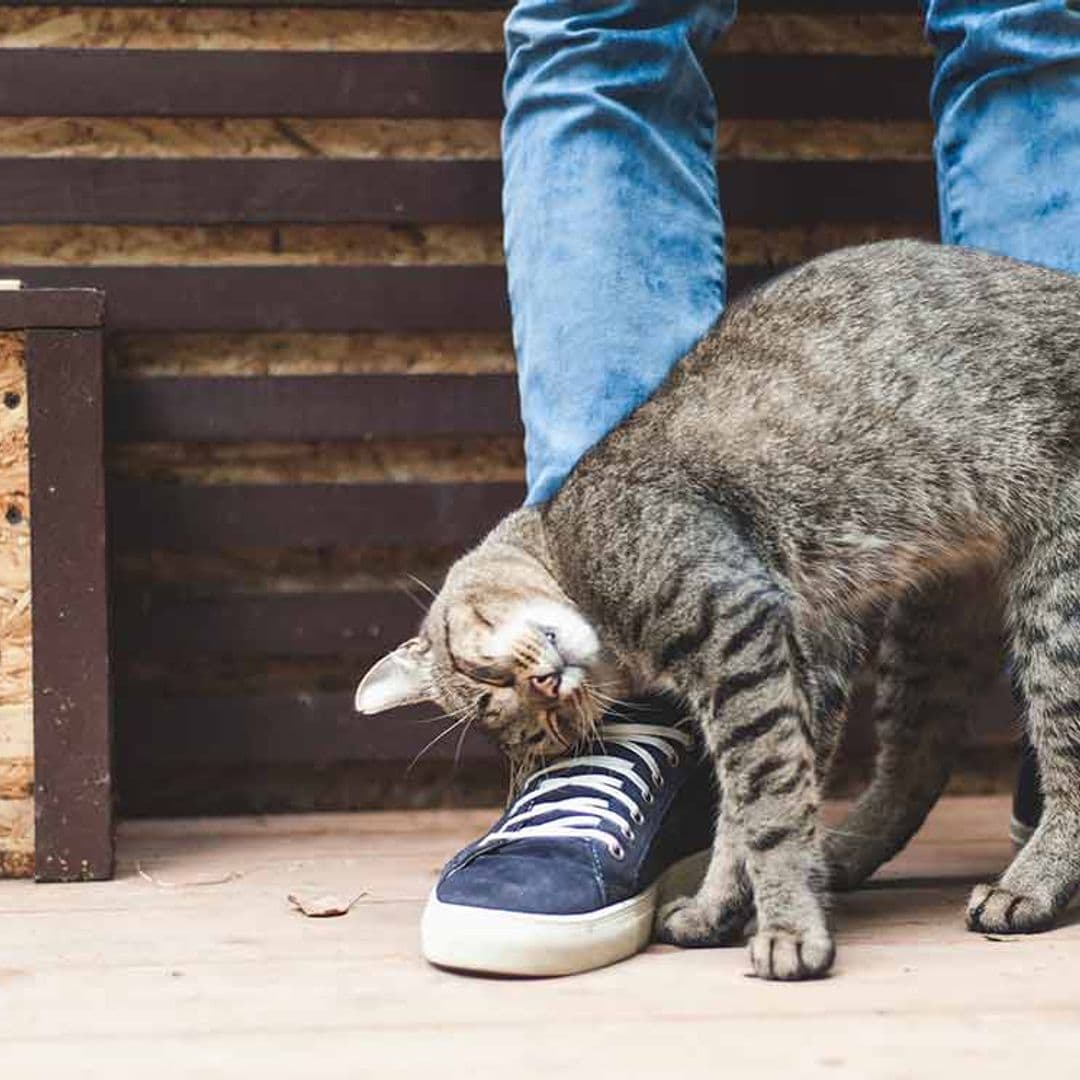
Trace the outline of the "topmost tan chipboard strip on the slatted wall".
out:
M 501 52 L 500 11 L 269 11 L 33 6 L 4 14 L 0 45 L 79 49 Z M 743 15 L 724 37 L 727 53 L 921 56 L 912 15 Z

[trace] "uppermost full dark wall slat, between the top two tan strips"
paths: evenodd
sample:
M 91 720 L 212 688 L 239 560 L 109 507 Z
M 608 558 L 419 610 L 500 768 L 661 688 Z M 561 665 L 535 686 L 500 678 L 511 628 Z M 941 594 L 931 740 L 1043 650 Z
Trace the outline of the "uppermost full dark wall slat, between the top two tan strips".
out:
M 496 53 L 6 50 L 4 116 L 498 117 Z M 710 57 L 728 117 L 922 118 L 923 57 Z

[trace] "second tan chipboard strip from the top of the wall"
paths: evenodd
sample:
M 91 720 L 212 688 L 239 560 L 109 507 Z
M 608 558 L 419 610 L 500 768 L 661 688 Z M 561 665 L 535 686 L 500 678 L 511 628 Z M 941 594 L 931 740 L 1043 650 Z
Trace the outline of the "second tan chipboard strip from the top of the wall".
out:
M 926 161 L 929 121 L 721 118 L 720 157 Z M 0 117 L 0 158 L 490 160 L 497 120 Z

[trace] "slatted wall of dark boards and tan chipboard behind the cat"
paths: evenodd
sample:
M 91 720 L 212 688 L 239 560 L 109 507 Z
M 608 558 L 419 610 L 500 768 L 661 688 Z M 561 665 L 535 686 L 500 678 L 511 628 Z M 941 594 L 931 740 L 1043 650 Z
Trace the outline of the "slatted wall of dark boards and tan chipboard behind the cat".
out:
M 914 8 L 748 0 L 710 58 L 735 291 L 933 235 Z M 405 777 L 431 729 L 349 700 L 417 620 L 409 575 L 521 495 L 502 18 L 0 4 L 0 276 L 108 293 L 126 812 L 498 788 L 475 748 Z

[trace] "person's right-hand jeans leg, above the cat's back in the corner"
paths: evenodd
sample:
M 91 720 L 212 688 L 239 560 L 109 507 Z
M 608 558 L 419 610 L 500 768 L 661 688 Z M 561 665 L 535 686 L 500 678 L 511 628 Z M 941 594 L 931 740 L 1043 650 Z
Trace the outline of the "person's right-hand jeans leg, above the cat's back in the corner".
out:
M 929 0 L 942 240 L 1080 273 L 1080 2 Z

